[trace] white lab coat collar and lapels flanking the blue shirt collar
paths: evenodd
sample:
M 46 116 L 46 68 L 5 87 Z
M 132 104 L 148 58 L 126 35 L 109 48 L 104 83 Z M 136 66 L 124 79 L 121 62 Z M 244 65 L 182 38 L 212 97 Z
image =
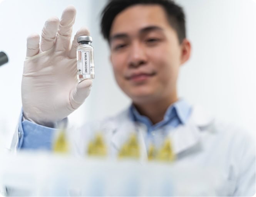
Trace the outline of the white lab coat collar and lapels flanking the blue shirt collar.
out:
M 201 132 L 204 131 L 204 128 L 211 125 L 213 120 L 214 119 L 212 118 L 212 116 L 209 115 L 209 113 L 205 112 L 202 107 L 198 105 L 193 107 L 191 115 L 187 120 L 186 124 L 183 124 L 183 125 L 181 124 L 177 128 L 172 129 L 171 132 L 169 132 L 168 137 L 170 137 L 171 139 L 174 154 L 179 154 L 184 150 L 187 150 L 191 147 L 194 147 L 194 145 L 199 144 Z M 115 128 L 114 128 L 115 132 L 112 136 L 112 144 L 118 150 L 120 150 L 121 148 L 124 136 L 127 135 L 125 134 L 125 130 L 120 129 L 122 128 L 120 127 L 120 124 L 129 125 L 131 124 L 131 122 L 132 120 L 131 120 L 131 117 L 129 116 L 129 109 L 120 113 L 114 119 L 113 125 L 115 125 Z M 125 127 L 124 125 L 123 127 Z M 143 126 L 140 125 L 140 129 L 143 130 L 142 127 Z M 146 129 L 146 126 L 144 129 Z M 139 136 L 142 136 L 142 135 L 139 135 Z M 146 149 L 145 145 L 142 148 Z M 142 152 L 146 152 L 146 150 L 143 150 Z

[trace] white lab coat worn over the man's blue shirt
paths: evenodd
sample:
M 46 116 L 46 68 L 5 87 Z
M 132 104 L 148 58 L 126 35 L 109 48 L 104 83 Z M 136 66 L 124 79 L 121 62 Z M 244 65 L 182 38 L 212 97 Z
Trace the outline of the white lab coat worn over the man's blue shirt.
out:
M 73 132 L 76 152 L 83 155 L 86 144 L 92 137 L 92 131 L 106 130 L 110 139 L 110 154 L 116 155 L 127 136 L 127 127 L 134 123 L 129 118 L 129 110 L 98 124 L 86 124 Z M 126 128 L 126 129 L 125 129 Z M 142 160 L 147 157 L 146 139 L 141 130 Z M 192 164 L 201 167 L 214 167 L 222 175 L 219 196 L 251 196 L 255 194 L 255 142 L 243 130 L 233 125 L 225 125 L 213 119 L 201 107 L 193 107 L 191 116 L 185 125 L 171 130 L 168 137 L 172 149 L 177 155 L 176 164 Z M 16 130 L 11 150 L 18 145 Z M 207 176 L 207 175 L 206 175 Z

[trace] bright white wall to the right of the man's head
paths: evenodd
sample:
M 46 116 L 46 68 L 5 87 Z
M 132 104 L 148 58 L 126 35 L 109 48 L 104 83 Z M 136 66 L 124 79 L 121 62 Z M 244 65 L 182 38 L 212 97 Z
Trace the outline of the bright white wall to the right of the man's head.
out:
M 256 4 L 251 0 L 179 0 L 192 57 L 179 95 L 217 117 L 256 130 Z

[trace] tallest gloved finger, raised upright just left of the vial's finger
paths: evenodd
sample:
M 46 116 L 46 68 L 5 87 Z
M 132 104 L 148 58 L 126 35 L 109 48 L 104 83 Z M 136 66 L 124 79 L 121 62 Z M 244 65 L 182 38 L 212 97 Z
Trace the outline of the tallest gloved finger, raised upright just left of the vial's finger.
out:
M 56 51 L 69 50 L 72 26 L 75 23 L 75 15 L 76 10 L 73 5 L 69 5 L 63 11 L 56 36 Z

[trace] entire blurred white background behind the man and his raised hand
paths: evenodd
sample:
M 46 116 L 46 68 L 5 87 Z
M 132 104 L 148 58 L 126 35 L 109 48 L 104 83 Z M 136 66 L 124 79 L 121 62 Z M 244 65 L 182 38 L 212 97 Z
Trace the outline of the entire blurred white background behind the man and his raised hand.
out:
M 100 35 L 100 11 L 106 0 L 4 0 L 0 4 L 0 51 L 9 62 L 0 67 L 0 137 L 8 145 L 22 107 L 21 79 L 26 38 L 40 34 L 51 16 L 67 5 L 77 8 L 74 32 L 89 28 L 95 49 L 92 92 L 70 115 L 77 126 L 85 120 L 114 115 L 130 104 L 117 87 L 107 43 Z M 177 0 L 187 17 L 191 59 L 181 67 L 179 96 L 201 104 L 219 119 L 256 130 L 256 5 L 253 0 Z M 156 13 L 157 14 L 157 13 Z

